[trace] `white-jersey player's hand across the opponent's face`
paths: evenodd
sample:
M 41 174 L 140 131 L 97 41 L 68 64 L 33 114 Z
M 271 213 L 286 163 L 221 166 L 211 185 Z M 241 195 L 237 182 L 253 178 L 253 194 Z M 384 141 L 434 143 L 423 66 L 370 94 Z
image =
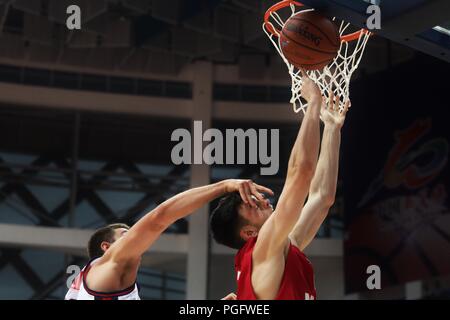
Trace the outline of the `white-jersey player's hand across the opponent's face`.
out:
M 244 203 L 251 205 L 256 208 L 255 198 L 261 201 L 262 203 L 267 202 L 265 199 L 264 193 L 268 193 L 273 195 L 273 191 L 264 186 L 260 186 L 259 184 L 254 183 L 252 180 L 239 180 L 239 179 L 230 179 L 227 180 L 226 184 L 226 192 L 239 192 L 241 195 L 242 201 Z

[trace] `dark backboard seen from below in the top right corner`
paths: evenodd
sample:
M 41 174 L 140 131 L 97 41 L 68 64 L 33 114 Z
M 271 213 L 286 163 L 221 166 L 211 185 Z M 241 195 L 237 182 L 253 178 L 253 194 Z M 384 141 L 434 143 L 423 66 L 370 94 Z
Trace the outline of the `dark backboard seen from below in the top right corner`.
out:
M 367 7 L 380 6 L 381 29 L 373 33 L 450 62 L 448 0 L 302 0 L 306 6 L 365 27 Z

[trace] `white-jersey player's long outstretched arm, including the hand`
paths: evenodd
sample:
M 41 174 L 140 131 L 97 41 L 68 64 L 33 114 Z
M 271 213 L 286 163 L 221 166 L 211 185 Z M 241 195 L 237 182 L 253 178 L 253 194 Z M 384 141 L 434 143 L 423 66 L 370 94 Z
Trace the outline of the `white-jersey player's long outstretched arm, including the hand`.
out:
M 272 193 L 270 189 L 257 184 L 250 187 L 248 180 L 232 179 L 184 191 L 161 203 L 141 218 L 124 237 L 106 251 L 102 260 L 126 263 L 139 258 L 176 220 L 191 214 L 225 193 L 235 191 L 239 191 L 244 201 L 248 201 L 252 195 L 261 198 L 259 192 Z

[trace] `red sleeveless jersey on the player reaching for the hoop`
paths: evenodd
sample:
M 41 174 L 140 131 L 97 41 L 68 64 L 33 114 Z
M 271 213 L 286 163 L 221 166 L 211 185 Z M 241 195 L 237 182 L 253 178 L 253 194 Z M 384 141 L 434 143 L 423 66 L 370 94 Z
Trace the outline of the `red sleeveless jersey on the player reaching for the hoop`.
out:
M 256 237 L 247 241 L 235 257 L 237 273 L 237 299 L 257 300 L 252 286 L 252 252 Z M 280 289 L 275 300 L 314 300 L 314 271 L 311 262 L 296 246 L 289 244 Z

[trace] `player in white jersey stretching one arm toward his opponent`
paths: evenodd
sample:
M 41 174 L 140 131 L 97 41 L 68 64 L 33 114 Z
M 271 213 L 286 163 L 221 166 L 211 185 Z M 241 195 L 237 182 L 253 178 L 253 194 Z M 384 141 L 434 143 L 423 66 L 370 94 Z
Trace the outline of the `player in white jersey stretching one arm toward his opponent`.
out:
M 161 203 L 133 227 L 113 224 L 98 229 L 90 238 L 91 261 L 75 278 L 66 300 L 139 300 L 136 283 L 141 256 L 167 227 L 206 203 L 230 192 L 256 207 L 255 197 L 267 202 L 261 192 L 273 194 L 250 180 L 224 180 L 182 192 Z

